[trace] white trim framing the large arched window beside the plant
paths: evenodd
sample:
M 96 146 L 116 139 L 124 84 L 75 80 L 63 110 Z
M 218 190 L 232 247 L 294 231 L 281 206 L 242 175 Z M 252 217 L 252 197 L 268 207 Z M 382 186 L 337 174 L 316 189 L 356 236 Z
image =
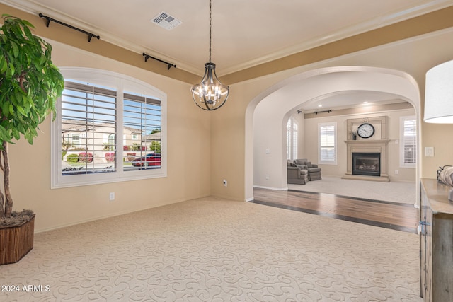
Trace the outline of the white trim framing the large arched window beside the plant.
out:
M 130 76 L 117 74 L 113 71 L 91 69 L 84 67 L 59 67 L 65 79 L 87 81 L 98 85 L 116 87 L 118 91 L 136 91 L 152 95 L 161 100 L 161 168 L 137 171 L 123 171 L 117 168 L 115 173 L 98 173 L 87 175 L 62 175 L 61 146 L 62 121 L 58 118 L 61 112 L 61 102 L 57 102 L 57 118 L 51 122 L 50 131 L 50 187 L 77 187 L 83 185 L 98 185 L 109 182 L 123 182 L 148 178 L 164 178 L 167 176 L 167 95 L 149 83 L 139 81 Z M 122 96 L 117 98 L 117 108 L 122 108 Z M 122 124 L 122 115 L 118 115 L 117 124 Z M 122 137 L 122 127 L 117 129 L 117 137 Z M 117 148 L 117 158 L 123 157 L 122 148 Z

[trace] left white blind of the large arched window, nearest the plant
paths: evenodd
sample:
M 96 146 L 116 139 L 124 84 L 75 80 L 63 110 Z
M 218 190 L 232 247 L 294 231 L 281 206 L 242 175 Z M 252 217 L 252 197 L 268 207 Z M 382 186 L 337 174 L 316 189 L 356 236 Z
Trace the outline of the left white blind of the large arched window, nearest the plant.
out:
M 112 173 L 116 156 L 105 161 L 104 134 L 117 132 L 116 91 L 66 81 L 61 98 L 63 175 Z M 109 150 L 116 153 L 115 139 Z

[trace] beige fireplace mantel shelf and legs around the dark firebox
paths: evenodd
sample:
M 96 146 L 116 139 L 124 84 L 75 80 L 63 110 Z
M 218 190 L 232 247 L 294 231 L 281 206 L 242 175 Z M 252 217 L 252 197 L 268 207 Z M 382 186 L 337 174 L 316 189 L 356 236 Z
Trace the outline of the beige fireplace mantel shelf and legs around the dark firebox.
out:
M 357 139 L 345 141 L 347 145 L 346 158 L 346 174 L 344 179 L 352 180 L 372 180 L 379 182 L 389 182 L 389 174 L 387 174 L 387 144 L 389 139 Z M 353 175 L 352 174 L 352 153 L 381 153 L 381 175 Z

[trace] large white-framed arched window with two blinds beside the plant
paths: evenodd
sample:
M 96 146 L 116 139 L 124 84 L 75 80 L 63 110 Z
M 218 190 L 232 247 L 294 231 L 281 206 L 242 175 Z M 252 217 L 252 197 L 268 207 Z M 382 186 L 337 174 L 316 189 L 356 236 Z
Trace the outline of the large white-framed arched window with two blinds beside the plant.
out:
M 60 70 L 52 187 L 165 177 L 166 94 L 110 71 Z M 65 137 L 77 137 L 77 144 Z

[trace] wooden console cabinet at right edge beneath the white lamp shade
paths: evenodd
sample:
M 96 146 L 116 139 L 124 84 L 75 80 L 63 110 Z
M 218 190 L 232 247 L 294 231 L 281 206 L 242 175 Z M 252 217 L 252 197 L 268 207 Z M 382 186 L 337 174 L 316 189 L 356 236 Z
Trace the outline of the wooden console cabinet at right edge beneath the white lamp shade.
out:
M 420 180 L 420 294 L 424 301 L 453 302 L 452 187 Z

